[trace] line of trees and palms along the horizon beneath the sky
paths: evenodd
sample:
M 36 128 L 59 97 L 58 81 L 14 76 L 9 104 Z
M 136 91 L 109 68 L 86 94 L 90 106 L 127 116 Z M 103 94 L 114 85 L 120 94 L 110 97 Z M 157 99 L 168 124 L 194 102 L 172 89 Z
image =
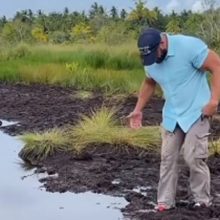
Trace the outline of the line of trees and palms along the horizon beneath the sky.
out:
M 207 1 L 207 0 L 205 0 Z M 45 14 L 41 10 L 22 10 L 12 19 L 0 18 L 0 44 L 74 42 L 121 44 L 136 39 L 144 27 L 155 27 L 170 33 L 183 33 L 203 38 L 212 48 L 220 48 L 220 8 L 214 0 L 202 13 L 183 10 L 163 14 L 155 7 L 149 9 L 146 2 L 136 0 L 129 12 L 119 11 L 113 6 L 109 11 L 97 2 L 88 13 L 70 12 L 66 7 L 62 13 Z

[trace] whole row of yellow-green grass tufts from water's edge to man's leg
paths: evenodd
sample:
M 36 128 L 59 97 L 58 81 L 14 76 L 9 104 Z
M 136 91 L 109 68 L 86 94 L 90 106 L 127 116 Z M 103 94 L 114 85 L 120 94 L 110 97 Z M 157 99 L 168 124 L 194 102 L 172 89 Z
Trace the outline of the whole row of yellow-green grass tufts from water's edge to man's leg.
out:
M 142 149 L 156 149 L 160 144 L 158 127 L 143 127 L 133 130 L 118 123 L 115 110 L 101 108 L 92 115 L 82 116 L 78 125 L 64 131 L 52 130 L 46 133 L 27 134 L 24 155 L 42 159 L 57 150 L 80 153 L 90 144 L 111 144 L 117 147 L 133 146 Z

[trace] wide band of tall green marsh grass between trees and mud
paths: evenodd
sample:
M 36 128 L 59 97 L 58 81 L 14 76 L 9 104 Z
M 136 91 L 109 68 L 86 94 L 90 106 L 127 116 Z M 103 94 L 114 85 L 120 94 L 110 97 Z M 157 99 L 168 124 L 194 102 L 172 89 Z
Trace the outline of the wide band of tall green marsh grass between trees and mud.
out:
M 40 83 L 99 90 L 138 91 L 144 78 L 134 45 L 27 46 L 0 53 L 0 81 Z

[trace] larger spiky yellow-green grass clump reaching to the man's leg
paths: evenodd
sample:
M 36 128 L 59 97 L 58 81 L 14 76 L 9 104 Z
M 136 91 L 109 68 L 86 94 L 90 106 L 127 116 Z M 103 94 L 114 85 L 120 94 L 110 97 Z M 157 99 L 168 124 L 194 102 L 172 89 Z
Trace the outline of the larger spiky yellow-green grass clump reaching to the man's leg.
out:
M 132 130 L 119 125 L 114 113 L 114 110 L 102 108 L 91 117 L 83 116 L 82 121 L 69 131 L 73 148 L 80 152 L 91 143 L 108 143 L 148 149 L 159 144 L 158 127 Z

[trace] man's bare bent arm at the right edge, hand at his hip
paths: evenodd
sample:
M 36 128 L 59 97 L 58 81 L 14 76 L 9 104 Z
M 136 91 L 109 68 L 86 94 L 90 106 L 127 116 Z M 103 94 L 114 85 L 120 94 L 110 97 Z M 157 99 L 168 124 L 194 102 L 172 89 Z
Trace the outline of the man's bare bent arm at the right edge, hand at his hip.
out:
M 208 56 L 202 65 L 203 70 L 211 72 L 211 99 L 203 109 L 203 115 L 212 116 L 217 112 L 220 99 L 220 57 L 209 50 Z

